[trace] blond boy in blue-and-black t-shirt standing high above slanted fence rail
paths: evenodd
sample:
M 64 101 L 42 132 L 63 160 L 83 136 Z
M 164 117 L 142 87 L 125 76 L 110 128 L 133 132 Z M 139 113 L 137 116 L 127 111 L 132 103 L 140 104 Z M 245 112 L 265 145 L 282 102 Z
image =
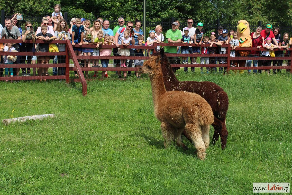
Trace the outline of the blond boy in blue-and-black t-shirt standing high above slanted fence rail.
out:
M 75 25 L 72 26 L 72 46 L 75 46 L 75 44 L 79 44 L 79 46 L 82 46 L 81 40 L 83 40 L 84 37 L 84 27 L 81 25 L 80 18 L 76 18 Z M 73 47 L 73 50 L 75 52 L 75 55 L 78 54 L 78 56 L 82 55 L 82 49 L 81 47 Z M 78 59 L 80 67 L 81 65 L 81 59 Z M 75 77 L 78 77 L 77 71 L 74 71 Z

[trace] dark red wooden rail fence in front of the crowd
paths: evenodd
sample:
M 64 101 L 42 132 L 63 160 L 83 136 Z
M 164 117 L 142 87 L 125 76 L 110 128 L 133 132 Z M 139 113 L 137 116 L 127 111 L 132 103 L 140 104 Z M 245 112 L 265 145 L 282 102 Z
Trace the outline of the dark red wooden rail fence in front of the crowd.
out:
M 22 43 L 22 40 L 14 40 L 14 39 L 1 39 L 0 43 Z M 26 43 L 32 43 L 31 40 L 27 40 Z M 93 68 L 93 67 L 80 67 L 78 59 L 114 59 L 114 60 L 121 60 L 121 59 L 127 59 L 127 60 L 135 60 L 135 59 L 143 59 L 147 60 L 148 56 L 76 56 L 73 50 L 73 46 L 69 40 L 57 40 L 57 41 L 49 41 L 44 42 L 43 40 L 36 40 L 36 43 L 62 43 L 66 44 L 66 50 L 65 52 L 0 52 L 0 55 L 17 55 L 17 56 L 66 56 L 65 63 L 61 64 L 41 64 L 40 62 L 36 64 L 0 64 L 0 68 L 46 68 L 46 67 L 65 67 L 65 75 L 58 75 L 58 76 L 30 76 L 30 77 L 22 77 L 22 76 L 14 76 L 14 77 L 0 77 L 0 81 L 4 80 L 54 80 L 54 79 L 65 79 L 66 82 L 74 81 L 74 82 L 81 82 L 82 84 L 82 94 L 85 96 L 87 94 L 87 83 L 86 79 L 84 77 L 83 71 L 128 71 L 128 70 L 136 70 L 138 71 L 139 68 L 135 67 L 129 67 L 124 68 L 120 67 L 120 65 L 117 65 L 117 67 L 108 67 L 108 68 Z M 209 46 L 210 44 L 206 44 L 204 46 Z M 195 44 L 182 44 L 182 43 L 155 43 L 152 46 L 128 46 L 128 49 L 153 49 L 153 52 L 155 52 L 155 49 L 157 46 L 197 46 Z M 215 45 L 213 45 L 215 46 Z M 83 44 L 82 46 L 79 46 L 76 44 L 74 47 L 82 47 L 82 48 L 95 48 L 96 45 L 86 45 Z M 201 46 L 199 46 L 201 47 Z M 215 46 L 216 47 L 216 46 Z M 226 54 L 169 54 L 167 53 L 167 56 L 177 56 L 177 57 L 225 57 L 227 63 L 226 64 L 171 64 L 172 67 L 227 67 L 227 71 L 229 70 L 263 70 L 263 69 L 290 69 L 290 73 L 292 72 L 292 57 L 291 55 L 288 57 L 230 57 L 230 45 L 223 44 L 221 47 L 227 47 L 226 48 Z M 115 45 L 100 45 L 100 48 L 116 48 Z M 120 48 L 124 48 L 124 46 L 120 46 Z M 265 48 L 236 48 L 236 51 L 264 51 Z M 275 51 L 284 50 L 284 49 L 275 49 Z M 292 49 L 289 48 L 291 51 Z M 287 51 L 285 49 L 285 51 Z M 70 67 L 69 59 L 72 59 L 74 63 L 74 67 Z M 261 67 L 230 67 L 230 61 L 239 61 L 239 60 L 288 60 L 287 66 L 261 66 Z M 9 66 L 9 67 L 7 67 Z M 69 78 L 69 71 L 77 71 L 77 74 L 79 76 L 78 79 L 70 79 Z

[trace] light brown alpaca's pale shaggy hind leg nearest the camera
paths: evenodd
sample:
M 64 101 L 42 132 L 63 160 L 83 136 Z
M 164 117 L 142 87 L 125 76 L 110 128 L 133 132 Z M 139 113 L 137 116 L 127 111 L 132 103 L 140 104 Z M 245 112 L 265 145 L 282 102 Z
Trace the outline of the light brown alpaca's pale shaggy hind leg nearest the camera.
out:
M 197 149 L 197 156 L 199 159 L 204 160 L 206 157 L 206 149 L 202 139 L 202 132 L 197 124 L 186 124 L 185 131 L 189 133 L 195 148 Z

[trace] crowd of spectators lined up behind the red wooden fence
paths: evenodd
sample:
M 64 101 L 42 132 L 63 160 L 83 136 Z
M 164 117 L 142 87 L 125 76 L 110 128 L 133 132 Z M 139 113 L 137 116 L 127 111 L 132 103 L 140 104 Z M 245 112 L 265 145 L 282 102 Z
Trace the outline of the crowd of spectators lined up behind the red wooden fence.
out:
M 35 44 L 36 39 L 49 41 L 49 40 L 71 40 L 72 46 L 79 44 L 82 46 L 84 44 L 94 44 L 95 47 L 73 47 L 75 54 L 79 56 L 143 56 L 144 52 L 149 54 L 153 53 L 153 49 L 121 49 L 120 45 L 148 45 L 151 46 L 154 43 L 166 42 L 166 43 L 184 43 L 185 46 L 164 46 L 164 51 L 166 53 L 182 53 L 182 54 L 225 54 L 226 47 L 220 47 L 222 44 L 229 44 L 231 47 L 230 56 L 234 57 L 237 54 L 234 49 L 239 46 L 241 40 L 237 39 L 238 32 L 234 30 L 226 30 L 223 27 L 218 27 L 217 32 L 211 32 L 211 36 L 206 36 L 204 30 L 204 24 L 199 22 L 196 27 L 194 26 L 194 21 L 192 18 L 187 19 L 187 27 L 180 30 L 180 22 L 175 21 L 172 23 L 172 28 L 167 30 L 166 36 L 164 37 L 163 28 L 157 25 L 155 29 L 150 30 L 149 34 L 145 34 L 141 27 L 141 21 L 136 19 L 134 22 L 128 21 L 125 23 L 124 18 L 118 18 L 118 25 L 114 29 L 109 28 L 109 20 L 103 20 L 102 18 L 97 18 L 94 20 L 92 26 L 90 20 L 85 18 L 72 18 L 70 24 L 63 19 L 62 13 L 60 12 L 61 6 L 56 4 L 54 7 L 54 12 L 51 15 L 46 15 L 41 21 L 41 26 L 34 31 L 32 24 L 30 22 L 25 23 L 25 28 L 22 29 L 18 24 L 17 15 L 18 13 L 11 16 L 11 18 L 5 19 L 5 27 L 3 28 L 0 24 L 0 34 L 1 39 L 22 39 L 22 43 L 14 44 L 0 44 L 0 51 L 30 51 L 30 52 L 47 52 L 48 44 Z M 147 41 L 144 43 L 144 36 L 147 36 Z M 265 29 L 258 27 L 256 32 L 251 32 L 252 47 L 253 48 L 267 48 L 268 51 L 251 51 L 248 55 L 249 57 L 265 57 L 265 56 L 276 56 L 281 57 L 288 55 L 288 52 L 275 51 L 274 48 L 285 48 L 288 49 L 291 45 L 292 38 L 289 39 L 288 33 L 283 33 L 281 35 L 280 29 L 278 27 L 272 30 L 272 25 L 267 25 Z M 33 43 L 25 43 L 26 40 L 32 40 Z M 196 46 L 188 46 L 187 44 L 194 43 Z M 100 45 L 115 45 L 117 48 L 104 49 Z M 210 46 L 205 46 L 205 44 L 210 44 Z M 218 47 L 212 47 L 216 44 Z M 4 47 L 5 46 L 5 47 Z M 65 44 L 57 44 L 58 51 L 65 51 Z M 159 51 L 161 46 L 155 48 Z M 66 56 L 54 56 L 53 63 L 65 63 Z M 4 61 L 3 61 L 4 60 Z M 13 62 L 9 56 L 1 56 L 1 63 L 11 64 L 44 64 L 49 63 L 50 58 L 48 56 L 17 56 L 17 60 Z M 169 57 L 171 64 L 177 63 L 177 57 Z M 252 60 L 247 60 L 247 66 L 251 66 Z M 201 57 L 200 64 L 226 64 L 225 58 L 217 57 Z M 253 66 L 282 66 L 283 60 L 253 60 Z M 99 60 L 86 60 L 83 61 L 79 59 L 80 66 L 84 67 L 100 67 Z M 108 67 L 109 60 L 101 60 L 102 67 Z M 139 67 L 143 64 L 143 60 L 114 60 L 113 65 L 115 67 Z M 183 57 L 182 64 L 199 64 L 197 62 L 197 57 Z M 30 76 L 30 68 L 11 68 L 8 67 L 0 69 L 0 75 L 5 73 L 5 76 Z M 236 62 L 231 61 L 231 67 L 237 66 Z M 226 68 L 226 67 L 225 67 Z M 49 75 L 48 68 L 32 68 L 32 75 Z M 178 68 L 173 68 L 176 71 Z M 192 72 L 194 68 L 190 69 Z M 226 71 L 223 67 L 219 68 L 220 72 Z M 184 71 L 187 72 L 188 68 L 185 67 Z M 217 68 L 206 68 L 206 73 L 216 72 Z M 270 70 L 267 70 L 270 74 Z M 276 74 L 279 70 L 273 70 Z M 9 72 L 9 74 L 8 74 Z M 131 75 L 131 71 L 122 71 L 123 77 Z M 253 73 L 261 73 L 262 71 L 253 70 Z M 203 68 L 201 68 L 201 73 L 204 74 Z M 251 73 L 251 70 L 248 70 Z M 86 77 L 88 77 L 88 71 L 85 71 Z M 121 77 L 121 71 L 116 73 L 118 77 Z M 65 68 L 53 68 L 53 75 L 65 75 Z M 137 78 L 140 78 L 138 72 L 135 72 Z M 78 77 L 75 71 L 75 76 Z M 97 71 L 93 77 L 97 77 Z M 107 71 L 102 71 L 102 78 L 108 77 Z

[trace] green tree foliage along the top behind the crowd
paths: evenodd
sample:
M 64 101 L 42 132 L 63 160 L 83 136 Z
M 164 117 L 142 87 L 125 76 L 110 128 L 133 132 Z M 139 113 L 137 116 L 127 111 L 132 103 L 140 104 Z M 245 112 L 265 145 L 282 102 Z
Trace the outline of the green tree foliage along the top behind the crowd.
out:
M 120 15 L 142 17 L 142 0 L 0 0 L 0 8 L 6 15 L 24 13 L 27 15 L 46 15 L 52 13 L 54 4 L 61 4 L 62 12 L 68 12 L 69 17 L 102 16 L 107 19 L 117 19 Z M 167 20 L 171 17 L 185 21 L 215 23 L 221 21 L 251 20 L 271 21 L 274 23 L 291 24 L 292 0 L 146 0 L 146 15 L 148 19 L 160 18 Z M 140 18 L 139 17 L 139 18 Z

